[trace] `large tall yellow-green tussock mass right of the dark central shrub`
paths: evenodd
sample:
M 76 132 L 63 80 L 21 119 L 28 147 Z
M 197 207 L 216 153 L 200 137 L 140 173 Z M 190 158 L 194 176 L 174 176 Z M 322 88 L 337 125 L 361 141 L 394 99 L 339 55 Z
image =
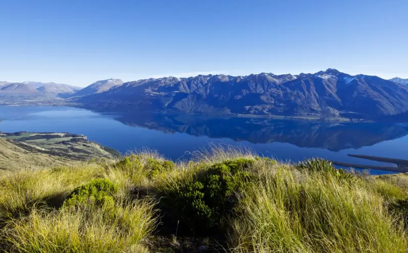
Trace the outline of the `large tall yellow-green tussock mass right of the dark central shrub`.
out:
M 232 221 L 235 252 L 406 252 L 402 223 L 380 195 L 326 173 L 262 171 Z

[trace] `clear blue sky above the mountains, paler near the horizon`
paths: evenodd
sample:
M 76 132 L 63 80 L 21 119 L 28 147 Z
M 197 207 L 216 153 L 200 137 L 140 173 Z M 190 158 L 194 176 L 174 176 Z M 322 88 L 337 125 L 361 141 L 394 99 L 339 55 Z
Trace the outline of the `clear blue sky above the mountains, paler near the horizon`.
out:
M 200 73 L 408 78 L 408 1 L 0 2 L 0 81 Z

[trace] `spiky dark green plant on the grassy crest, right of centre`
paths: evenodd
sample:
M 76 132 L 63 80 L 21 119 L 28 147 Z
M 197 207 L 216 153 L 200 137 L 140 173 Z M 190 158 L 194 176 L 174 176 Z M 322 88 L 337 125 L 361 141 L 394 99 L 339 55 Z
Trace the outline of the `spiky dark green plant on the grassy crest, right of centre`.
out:
M 312 158 L 301 161 L 297 167 L 301 170 L 307 170 L 309 172 L 329 173 L 339 179 L 351 180 L 354 178 L 352 174 L 347 173 L 341 168 L 335 168 L 331 161 L 322 158 Z

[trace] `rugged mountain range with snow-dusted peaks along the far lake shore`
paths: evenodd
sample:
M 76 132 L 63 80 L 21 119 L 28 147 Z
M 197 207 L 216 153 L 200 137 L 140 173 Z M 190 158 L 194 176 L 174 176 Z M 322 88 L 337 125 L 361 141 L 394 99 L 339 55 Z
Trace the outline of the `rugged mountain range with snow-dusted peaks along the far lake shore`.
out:
M 34 82 L 4 84 L 0 94 L 5 89 L 10 94 L 48 95 L 44 91 L 47 86 L 36 87 Z M 65 98 L 60 102 L 98 111 L 408 121 L 404 79 L 349 75 L 336 69 L 299 75 L 170 76 L 130 82 L 108 79 L 61 94 L 56 96 Z

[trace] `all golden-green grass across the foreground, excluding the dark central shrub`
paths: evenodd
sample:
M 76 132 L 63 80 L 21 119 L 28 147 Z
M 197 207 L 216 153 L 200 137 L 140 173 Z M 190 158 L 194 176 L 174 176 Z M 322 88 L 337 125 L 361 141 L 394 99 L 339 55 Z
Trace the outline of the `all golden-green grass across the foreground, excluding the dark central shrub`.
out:
M 149 161 L 164 158 L 151 151 L 103 164 L 3 172 L 0 245 L 6 252 L 148 252 L 144 241 L 163 215 L 156 210 L 159 193 L 179 192 L 213 164 L 243 157 L 254 160 L 254 177 L 224 217 L 224 246 L 231 251 L 407 252 L 402 218 L 388 209 L 408 198 L 406 175 L 339 178 L 318 166 L 308 171 L 232 146 L 195 152 L 154 177 Z M 61 207 L 75 187 L 95 178 L 118 186 L 113 204 Z M 138 187 L 151 192 L 138 198 Z

